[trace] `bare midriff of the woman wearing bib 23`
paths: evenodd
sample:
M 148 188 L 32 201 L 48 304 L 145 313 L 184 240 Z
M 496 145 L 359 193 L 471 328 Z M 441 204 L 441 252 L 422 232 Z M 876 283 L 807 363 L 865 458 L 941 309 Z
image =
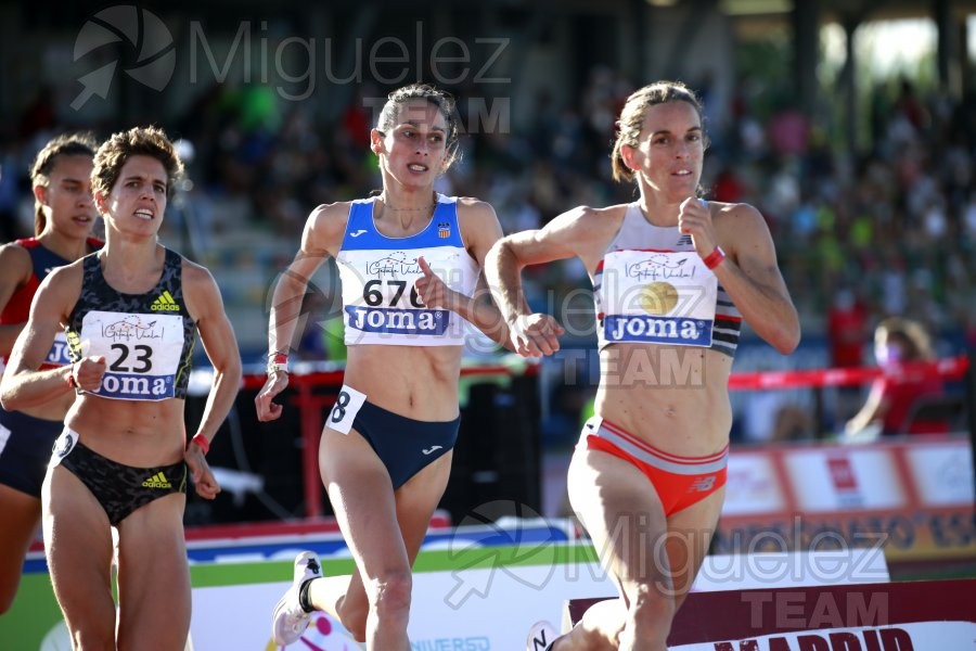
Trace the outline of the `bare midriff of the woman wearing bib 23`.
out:
M 65 424 L 86 447 L 113 461 L 149 468 L 183 458 L 183 400 L 115 400 L 82 394 Z

